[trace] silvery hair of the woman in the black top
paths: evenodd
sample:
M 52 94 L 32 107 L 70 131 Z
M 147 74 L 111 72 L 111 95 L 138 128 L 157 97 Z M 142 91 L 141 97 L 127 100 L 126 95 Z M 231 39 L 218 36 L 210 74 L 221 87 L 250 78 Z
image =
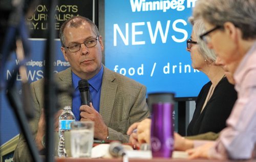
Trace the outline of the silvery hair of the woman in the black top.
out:
M 194 17 L 189 17 L 188 21 L 193 25 L 193 31 L 196 34 L 197 43 L 199 47 L 199 53 L 204 59 L 209 62 L 216 61 L 216 55 L 214 50 L 211 50 L 207 47 L 207 44 L 200 39 L 200 35 L 205 32 L 204 23 L 202 19 L 195 20 Z

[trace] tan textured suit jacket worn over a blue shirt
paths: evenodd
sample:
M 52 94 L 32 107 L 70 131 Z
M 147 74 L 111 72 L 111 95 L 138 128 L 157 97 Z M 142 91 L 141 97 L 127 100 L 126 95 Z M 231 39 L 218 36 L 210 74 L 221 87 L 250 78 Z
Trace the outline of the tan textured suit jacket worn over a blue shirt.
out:
M 32 96 L 35 102 L 35 118 L 30 122 L 30 127 L 34 136 L 37 132 L 40 111 L 44 108 L 43 81 L 44 79 L 41 79 L 31 83 Z M 72 87 L 70 67 L 56 74 L 56 85 L 60 89 Z M 126 135 L 129 126 L 149 115 L 145 95 L 146 87 L 144 85 L 103 66 L 99 113 L 108 126 L 109 140 L 129 142 L 129 136 Z M 58 94 L 57 101 L 59 109 L 72 106 L 72 96 L 67 93 Z M 28 161 L 29 156 L 25 138 L 21 134 L 14 152 L 14 160 Z

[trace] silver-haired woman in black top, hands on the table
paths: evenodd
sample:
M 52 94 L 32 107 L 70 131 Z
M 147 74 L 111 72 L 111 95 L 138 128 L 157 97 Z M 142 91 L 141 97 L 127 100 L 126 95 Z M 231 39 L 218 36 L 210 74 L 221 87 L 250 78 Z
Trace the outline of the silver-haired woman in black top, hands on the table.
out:
M 221 66 L 216 65 L 216 55 L 207 48 L 200 34 L 205 32 L 203 21 L 189 18 L 193 24 L 191 38 L 187 40 L 187 51 L 190 52 L 193 68 L 205 73 L 209 82 L 206 83 L 197 98 L 193 119 L 188 125 L 185 138 L 198 140 L 216 140 L 218 133 L 226 127 L 226 120 L 230 115 L 237 92 L 234 90 L 233 79 L 229 74 L 224 75 Z M 230 84 L 230 83 L 232 84 Z M 145 119 L 134 123 L 127 131 L 130 142 L 140 146 L 141 143 L 150 143 L 151 120 Z M 133 132 L 137 128 L 137 132 Z M 185 150 L 184 138 L 175 133 L 176 150 Z M 189 148 L 189 147 L 188 147 Z

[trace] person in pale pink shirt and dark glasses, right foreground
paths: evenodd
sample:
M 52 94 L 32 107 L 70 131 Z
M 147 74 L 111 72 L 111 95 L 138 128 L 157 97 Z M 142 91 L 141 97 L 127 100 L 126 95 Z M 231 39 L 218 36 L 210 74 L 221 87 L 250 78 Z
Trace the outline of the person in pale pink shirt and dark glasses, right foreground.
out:
M 207 32 L 200 38 L 215 50 L 216 63 L 233 75 L 238 99 L 216 142 L 186 140 L 183 148 L 195 147 L 188 150 L 190 158 L 255 158 L 256 1 L 198 0 L 193 16 L 203 19 Z

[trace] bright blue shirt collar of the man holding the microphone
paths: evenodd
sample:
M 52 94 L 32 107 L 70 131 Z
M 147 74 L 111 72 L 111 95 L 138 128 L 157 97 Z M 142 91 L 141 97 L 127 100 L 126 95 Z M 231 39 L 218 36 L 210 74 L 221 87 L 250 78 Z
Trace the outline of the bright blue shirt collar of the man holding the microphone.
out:
M 100 71 L 98 74 L 96 74 L 94 77 L 88 80 L 89 84 L 94 88 L 97 92 L 99 91 L 102 83 L 103 78 L 103 65 L 101 65 Z M 78 82 L 81 80 L 75 73 L 72 72 L 72 81 L 73 81 L 73 87 L 78 87 Z

